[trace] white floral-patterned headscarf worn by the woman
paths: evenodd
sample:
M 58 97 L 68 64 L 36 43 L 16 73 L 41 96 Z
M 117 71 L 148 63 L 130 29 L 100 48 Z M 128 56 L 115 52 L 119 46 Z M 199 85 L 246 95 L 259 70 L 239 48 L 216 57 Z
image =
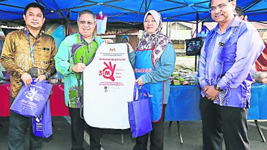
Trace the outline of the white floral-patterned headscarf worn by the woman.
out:
M 149 12 L 144 15 L 144 20 L 146 20 L 149 14 L 151 14 L 155 19 L 155 22 L 157 23 L 157 29 L 154 33 L 147 33 L 147 31 L 144 31 L 137 48 L 139 50 L 144 50 L 152 49 L 155 46 L 152 54 L 153 64 L 155 65 L 155 63 L 160 59 L 160 56 L 166 48 L 166 45 L 171 42 L 169 38 L 166 35 L 163 35 L 161 32 L 162 16 L 160 15 L 160 13 L 155 10 L 149 10 Z

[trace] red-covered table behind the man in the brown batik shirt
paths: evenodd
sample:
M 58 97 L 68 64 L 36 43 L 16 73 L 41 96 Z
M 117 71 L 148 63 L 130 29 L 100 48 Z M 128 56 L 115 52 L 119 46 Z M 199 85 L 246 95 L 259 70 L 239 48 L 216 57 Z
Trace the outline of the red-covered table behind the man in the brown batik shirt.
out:
M 10 83 L 0 85 L 0 91 L 0 117 L 8 117 L 10 115 Z M 64 102 L 64 85 L 53 85 L 50 108 L 52 116 L 68 116 L 68 107 Z

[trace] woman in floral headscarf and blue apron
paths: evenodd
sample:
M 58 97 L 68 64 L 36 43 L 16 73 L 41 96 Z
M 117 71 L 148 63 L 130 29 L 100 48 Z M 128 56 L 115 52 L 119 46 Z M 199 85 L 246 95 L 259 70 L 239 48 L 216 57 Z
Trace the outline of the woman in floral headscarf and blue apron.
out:
M 136 82 L 147 89 L 152 128 L 150 149 L 164 147 L 164 110 L 170 93 L 169 77 L 175 70 L 175 49 L 166 35 L 161 33 L 162 18 L 150 10 L 144 16 L 144 33 L 136 52 L 127 43 Z M 134 150 L 147 149 L 149 134 L 136 138 Z

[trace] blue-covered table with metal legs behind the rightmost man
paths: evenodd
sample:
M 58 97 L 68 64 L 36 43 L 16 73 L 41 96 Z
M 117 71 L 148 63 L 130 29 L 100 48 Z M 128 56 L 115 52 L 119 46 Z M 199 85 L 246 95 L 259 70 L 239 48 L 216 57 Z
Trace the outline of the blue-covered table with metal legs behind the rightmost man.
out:
M 177 121 L 177 127 L 181 143 L 183 138 L 179 130 L 179 121 L 194 121 L 201 119 L 199 107 L 201 88 L 199 85 L 170 86 L 170 96 L 165 110 L 165 121 Z M 267 119 L 267 85 L 255 83 L 251 89 L 251 108 L 249 108 L 249 120 L 255 120 L 259 134 L 265 142 L 264 134 L 257 120 Z

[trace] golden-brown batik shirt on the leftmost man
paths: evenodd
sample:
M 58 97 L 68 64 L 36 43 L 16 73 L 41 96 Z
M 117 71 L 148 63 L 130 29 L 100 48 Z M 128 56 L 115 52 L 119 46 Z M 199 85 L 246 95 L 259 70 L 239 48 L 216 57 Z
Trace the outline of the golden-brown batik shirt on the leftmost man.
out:
M 29 35 L 29 40 L 26 33 Z M 34 66 L 30 50 L 30 46 L 33 45 Z M 54 57 L 57 52 L 53 37 L 42 31 L 36 37 L 29 33 L 27 28 L 8 33 L 0 60 L 5 70 L 10 72 L 11 96 L 16 97 L 23 85 L 21 75 L 29 72 L 31 67 L 38 68 L 38 76 L 46 74 L 50 77 L 55 74 Z

